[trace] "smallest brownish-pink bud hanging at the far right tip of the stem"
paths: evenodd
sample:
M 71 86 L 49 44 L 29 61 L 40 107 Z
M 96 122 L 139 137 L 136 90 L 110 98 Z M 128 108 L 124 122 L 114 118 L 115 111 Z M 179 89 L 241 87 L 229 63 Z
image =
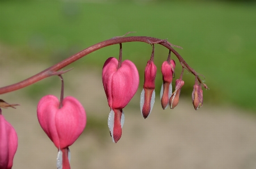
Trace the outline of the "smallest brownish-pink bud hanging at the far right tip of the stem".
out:
M 203 90 L 201 84 L 198 84 L 197 77 L 195 79 L 195 85 L 192 92 L 192 101 L 195 110 L 198 110 L 198 108 L 203 106 Z

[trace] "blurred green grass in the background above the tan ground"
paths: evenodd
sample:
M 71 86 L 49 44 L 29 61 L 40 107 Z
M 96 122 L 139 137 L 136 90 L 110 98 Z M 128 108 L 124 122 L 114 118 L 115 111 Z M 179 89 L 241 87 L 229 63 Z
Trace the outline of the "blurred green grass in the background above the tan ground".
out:
M 255 111 L 255 11 L 256 4 L 248 2 L 0 1 L 0 42 L 25 55 L 26 58 L 19 58 L 20 62 L 32 60 L 52 66 L 88 46 L 129 31 L 137 32 L 131 36 L 168 38 L 170 43 L 184 48 L 176 50 L 206 77 L 210 90 L 204 90 L 205 103 L 232 103 Z M 101 68 L 108 57 L 118 56 L 118 47 L 95 51 L 72 67 Z M 123 58 L 138 67 L 140 85 L 150 55 L 148 44 L 123 44 Z M 156 45 L 158 91 L 161 63 L 167 55 L 168 50 Z M 176 78 L 180 71 L 177 66 Z M 186 73 L 184 80 L 181 95 L 191 97 L 194 77 Z M 29 90 L 37 90 L 36 87 Z

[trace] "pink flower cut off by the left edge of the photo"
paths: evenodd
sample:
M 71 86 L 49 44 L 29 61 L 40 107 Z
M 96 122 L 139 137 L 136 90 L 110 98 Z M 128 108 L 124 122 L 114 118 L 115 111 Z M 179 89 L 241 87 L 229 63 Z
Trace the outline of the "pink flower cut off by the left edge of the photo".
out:
M 2 115 L 0 109 L 0 168 L 10 169 L 18 147 L 15 129 Z

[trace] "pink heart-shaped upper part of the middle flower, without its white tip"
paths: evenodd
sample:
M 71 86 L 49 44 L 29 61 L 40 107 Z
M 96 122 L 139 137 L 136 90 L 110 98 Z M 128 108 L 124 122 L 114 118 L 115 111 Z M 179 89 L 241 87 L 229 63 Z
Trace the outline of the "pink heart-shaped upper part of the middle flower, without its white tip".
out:
M 139 86 L 139 73 L 133 62 L 125 60 L 117 69 L 118 60 L 108 58 L 103 66 L 103 86 L 109 107 L 123 109 Z

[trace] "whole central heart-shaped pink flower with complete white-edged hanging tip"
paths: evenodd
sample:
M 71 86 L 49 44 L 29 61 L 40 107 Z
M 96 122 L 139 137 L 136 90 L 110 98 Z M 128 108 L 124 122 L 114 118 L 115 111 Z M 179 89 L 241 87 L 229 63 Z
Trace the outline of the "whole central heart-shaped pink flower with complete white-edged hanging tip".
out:
M 133 98 L 139 86 L 139 73 L 133 62 L 125 60 L 118 68 L 116 58 L 108 58 L 103 66 L 103 86 L 108 99 L 110 113 L 108 127 L 113 142 L 117 142 L 122 135 L 124 122 L 123 108 Z

